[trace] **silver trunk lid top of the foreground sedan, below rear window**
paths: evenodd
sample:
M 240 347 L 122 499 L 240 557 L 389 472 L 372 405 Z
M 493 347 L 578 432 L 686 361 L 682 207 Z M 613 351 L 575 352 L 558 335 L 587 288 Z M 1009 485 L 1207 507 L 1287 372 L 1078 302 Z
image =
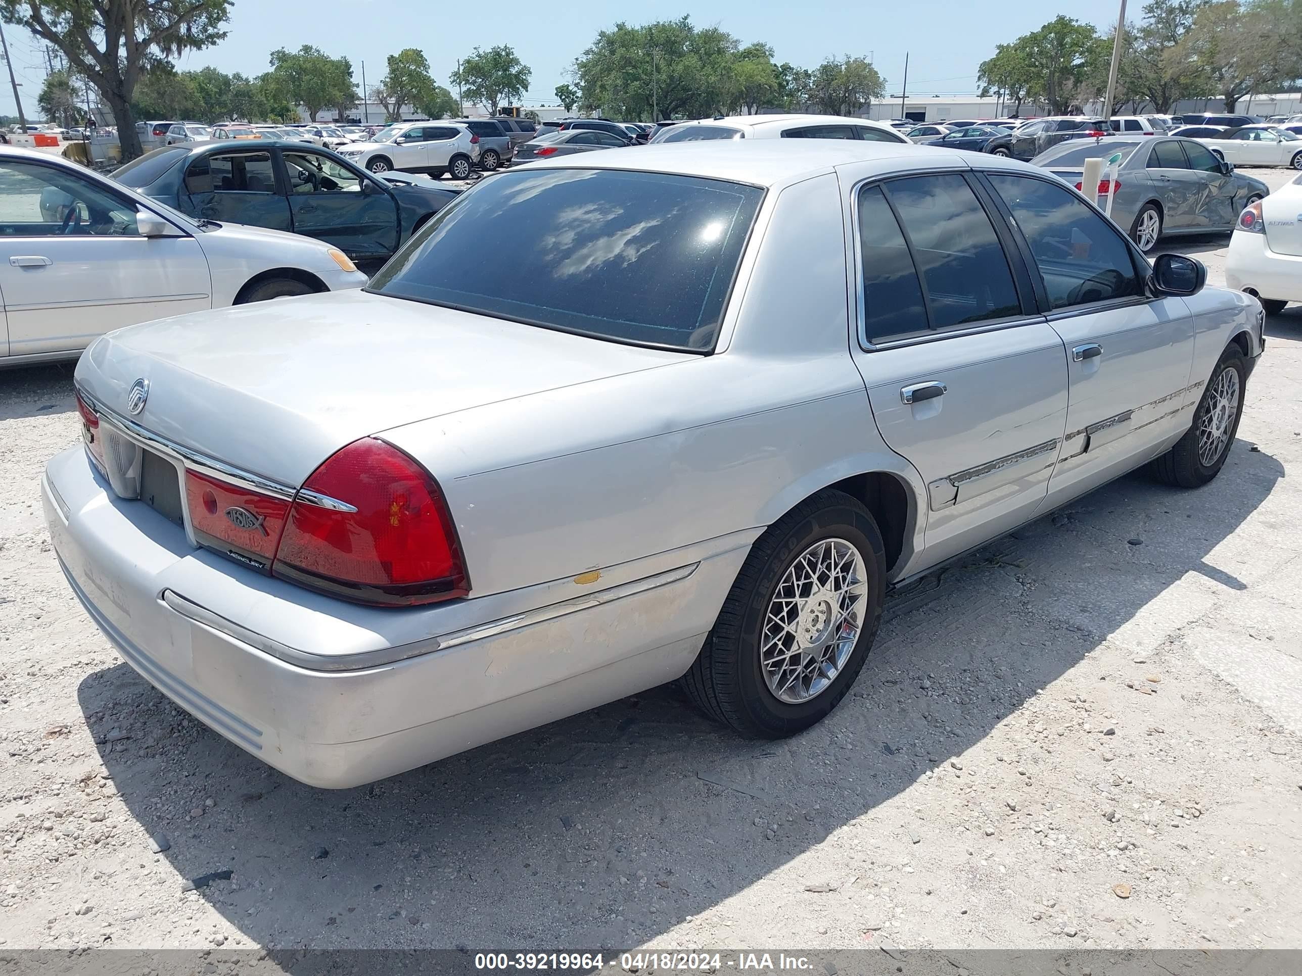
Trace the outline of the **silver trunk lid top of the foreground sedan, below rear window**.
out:
M 156 435 L 299 485 L 370 433 L 695 358 L 336 291 L 111 332 L 82 355 L 77 383 Z M 129 415 L 138 379 L 148 397 Z

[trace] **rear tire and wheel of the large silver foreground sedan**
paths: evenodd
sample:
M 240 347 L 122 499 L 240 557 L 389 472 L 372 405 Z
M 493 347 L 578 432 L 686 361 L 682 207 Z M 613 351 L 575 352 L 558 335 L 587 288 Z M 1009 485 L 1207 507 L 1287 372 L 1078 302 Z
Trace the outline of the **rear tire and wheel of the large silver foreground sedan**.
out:
M 885 556 L 867 509 L 824 489 L 751 547 L 682 683 L 750 738 L 794 735 L 850 690 L 881 622 Z

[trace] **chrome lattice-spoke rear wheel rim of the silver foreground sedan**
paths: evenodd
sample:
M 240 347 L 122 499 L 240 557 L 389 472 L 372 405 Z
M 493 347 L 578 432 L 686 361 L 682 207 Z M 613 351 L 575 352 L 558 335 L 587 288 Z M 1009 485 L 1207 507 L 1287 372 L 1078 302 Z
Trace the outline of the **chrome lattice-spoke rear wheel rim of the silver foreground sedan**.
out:
M 779 701 L 798 705 L 836 681 L 863 632 L 867 569 L 844 539 L 822 539 L 783 574 L 764 616 L 759 664 Z

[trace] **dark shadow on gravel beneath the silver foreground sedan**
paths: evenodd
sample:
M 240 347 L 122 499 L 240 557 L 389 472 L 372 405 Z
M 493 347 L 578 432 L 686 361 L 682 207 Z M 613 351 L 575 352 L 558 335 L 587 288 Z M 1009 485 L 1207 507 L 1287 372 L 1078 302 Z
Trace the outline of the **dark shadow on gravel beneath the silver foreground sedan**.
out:
M 171 838 L 178 889 L 233 872 L 199 897 L 256 943 L 618 949 L 852 821 L 874 847 L 844 851 L 848 869 L 915 850 L 878 808 L 1187 574 L 1242 588 L 1256 553 L 1232 534 L 1282 476 L 1241 440 L 1206 488 L 1137 472 L 992 543 L 892 597 L 852 694 L 783 742 L 742 740 L 669 686 L 323 791 L 174 712 L 125 664 L 78 698 L 130 813 Z

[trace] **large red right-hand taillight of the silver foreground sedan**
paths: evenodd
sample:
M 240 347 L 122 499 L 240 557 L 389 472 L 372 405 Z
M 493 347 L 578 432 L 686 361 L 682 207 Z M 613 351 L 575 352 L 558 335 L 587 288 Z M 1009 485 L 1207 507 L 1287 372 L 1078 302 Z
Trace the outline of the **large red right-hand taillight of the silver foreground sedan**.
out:
M 371 604 L 424 604 L 470 590 L 437 481 L 374 437 L 336 452 L 307 479 L 272 573 Z

